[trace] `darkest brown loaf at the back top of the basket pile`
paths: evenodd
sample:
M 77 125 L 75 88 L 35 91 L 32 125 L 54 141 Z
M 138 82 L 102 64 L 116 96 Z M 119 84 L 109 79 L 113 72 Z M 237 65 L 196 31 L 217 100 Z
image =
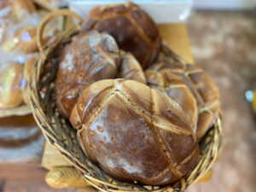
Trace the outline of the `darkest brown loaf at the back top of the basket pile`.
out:
M 115 38 L 120 49 L 131 52 L 143 68 L 156 59 L 160 50 L 158 28 L 134 3 L 97 6 L 82 25 L 81 32 L 95 29 Z

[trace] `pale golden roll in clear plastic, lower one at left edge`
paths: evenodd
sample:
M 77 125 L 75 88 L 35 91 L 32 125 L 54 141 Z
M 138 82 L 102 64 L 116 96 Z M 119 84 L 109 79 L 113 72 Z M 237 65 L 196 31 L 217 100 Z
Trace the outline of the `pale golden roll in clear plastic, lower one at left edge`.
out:
M 0 108 L 14 108 L 22 102 L 23 66 L 13 63 L 0 74 Z

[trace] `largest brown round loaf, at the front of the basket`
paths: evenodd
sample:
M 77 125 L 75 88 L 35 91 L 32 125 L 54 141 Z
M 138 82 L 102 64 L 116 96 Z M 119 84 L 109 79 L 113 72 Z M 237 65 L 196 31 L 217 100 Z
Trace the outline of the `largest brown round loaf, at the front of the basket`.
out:
M 190 172 L 198 145 L 183 109 L 164 93 L 137 81 L 91 84 L 70 117 L 90 160 L 114 177 L 166 184 Z

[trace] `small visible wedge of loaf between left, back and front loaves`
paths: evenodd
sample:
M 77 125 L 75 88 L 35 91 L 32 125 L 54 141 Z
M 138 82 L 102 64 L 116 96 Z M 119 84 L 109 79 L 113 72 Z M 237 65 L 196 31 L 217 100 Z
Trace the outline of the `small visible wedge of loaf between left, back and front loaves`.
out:
M 130 79 L 147 84 L 143 68 L 138 63 L 137 59 L 129 52 L 120 51 L 121 66 L 118 78 Z

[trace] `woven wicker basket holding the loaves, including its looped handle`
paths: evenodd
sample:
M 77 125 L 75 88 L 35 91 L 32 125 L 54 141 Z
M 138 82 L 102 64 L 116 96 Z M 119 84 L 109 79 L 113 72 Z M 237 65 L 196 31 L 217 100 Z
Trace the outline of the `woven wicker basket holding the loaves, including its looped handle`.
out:
M 79 16 L 67 10 L 61 10 L 47 16 L 38 27 L 38 46 L 41 55 L 33 68 L 31 90 L 31 108 L 34 118 L 49 140 L 67 160 L 83 175 L 83 177 L 96 189 L 102 191 L 184 191 L 190 184 L 198 181 L 212 166 L 218 156 L 222 143 L 222 128 L 220 117 L 216 120 L 210 131 L 200 141 L 200 159 L 195 169 L 188 176 L 181 178 L 176 183 L 165 186 L 143 185 L 137 182 L 125 183 L 110 176 L 100 167 L 93 164 L 84 155 L 76 137 L 76 131 L 69 121 L 61 118 L 52 100 L 55 75 L 57 71 L 58 51 L 61 44 L 69 44 L 71 37 L 78 34 L 80 27 L 76 26 L 66 32 L 62 32 L 51 42 L 42 47 L 41 36 L 47 21 L 57 15 Z M 160 52 L 159 61 L 181 61 L 165 44 Z M 42 94 L 44 92 L 44 94 Z

